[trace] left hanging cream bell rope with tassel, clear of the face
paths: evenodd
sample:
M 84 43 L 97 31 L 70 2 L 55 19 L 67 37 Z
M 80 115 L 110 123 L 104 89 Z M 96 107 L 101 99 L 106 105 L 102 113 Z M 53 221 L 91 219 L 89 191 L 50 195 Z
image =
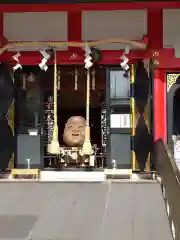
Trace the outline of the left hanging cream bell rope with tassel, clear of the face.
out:
M 48 145 L 48 152 L 50 154 L 59 154 L 60 145 L 58 141 L 58 124 L 57 124 L 57 61 L 56 52 L 54 53 L 54 126 L 53 126 L 53 138 Z

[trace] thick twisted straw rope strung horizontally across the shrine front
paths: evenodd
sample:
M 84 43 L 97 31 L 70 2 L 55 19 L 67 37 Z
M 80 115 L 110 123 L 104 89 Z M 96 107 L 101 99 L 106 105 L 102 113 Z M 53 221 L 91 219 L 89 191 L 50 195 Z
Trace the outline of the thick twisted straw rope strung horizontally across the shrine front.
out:
M 89 42 L 54 42 L 54 41 L 49 41 L 49 42 L 38 42 L 38 41 L 22 41 L 22 42 L 11 42 L 6 45 L 4 45 L 2 48 L 0 48 L 0 55 L 4 53 L 7 50 L 12 50 L 12 49 L 21 49 L 21 48 L 26 48 L 26 47 L 33 47 L 34 49 L 37 49 L 38 47 L 44 47 L 44 48 L 59 48 L 62 46 L 67 46 L 67 47 L 85 47 L 85 45 L 88 43 L 89 47 L 95 47 L 97 45 L 101 44 L 107 44 L 107 43 L 119 43 L 119 44 L 126 44 L 130 45 L 134 48 L 138 49 L 145 49 L 146 44 L 140 43 L 138 41 L 132 41 L 132 40 L 126 40 L 122 38 L 110 38 L 110 39 L 105 39 L 105 40 L 97 40 L 97 41 L 89 41 Z

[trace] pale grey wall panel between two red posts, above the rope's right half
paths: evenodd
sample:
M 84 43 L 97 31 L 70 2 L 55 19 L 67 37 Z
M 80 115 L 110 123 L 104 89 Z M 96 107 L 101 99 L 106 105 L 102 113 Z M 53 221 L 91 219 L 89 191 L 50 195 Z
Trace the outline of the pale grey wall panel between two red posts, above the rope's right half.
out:
M 121 37 L 141 40 L 147 34 L 147 13 L 145 10 L 84 11 L 82 13 L 83 40 L 99 40 Z M 121 49 L 120 44 L 103 44 L 98 48 Z

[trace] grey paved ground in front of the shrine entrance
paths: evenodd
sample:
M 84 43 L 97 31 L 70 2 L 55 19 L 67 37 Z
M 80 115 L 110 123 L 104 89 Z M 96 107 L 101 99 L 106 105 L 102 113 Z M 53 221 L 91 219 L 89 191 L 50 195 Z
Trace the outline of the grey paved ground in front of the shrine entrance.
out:
M 172 240 L 157 183 L 0 183 L 0 239 Z

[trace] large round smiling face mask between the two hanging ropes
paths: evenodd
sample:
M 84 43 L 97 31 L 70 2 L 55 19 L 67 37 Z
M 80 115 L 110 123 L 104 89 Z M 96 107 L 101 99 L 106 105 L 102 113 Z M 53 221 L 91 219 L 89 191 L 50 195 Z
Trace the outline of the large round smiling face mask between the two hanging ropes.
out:
M 86 120 L 81 116 L 69 118 L 64 129 L 64 143 L 69 147 L 81 147 L 84 143 L 85 125 Z

